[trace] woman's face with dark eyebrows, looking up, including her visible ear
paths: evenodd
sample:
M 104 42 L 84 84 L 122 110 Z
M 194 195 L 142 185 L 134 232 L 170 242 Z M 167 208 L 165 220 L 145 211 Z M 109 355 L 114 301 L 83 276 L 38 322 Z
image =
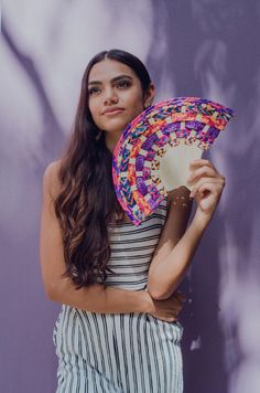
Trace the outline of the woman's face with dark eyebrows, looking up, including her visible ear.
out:
M 141 82 L 128 65 L 105 59 L 96 63 L 88 77 L 88 105 L 97 127 L 107 132 L 122 132 L 126 126 L 151 105 L 151 84 L 143 97 Z

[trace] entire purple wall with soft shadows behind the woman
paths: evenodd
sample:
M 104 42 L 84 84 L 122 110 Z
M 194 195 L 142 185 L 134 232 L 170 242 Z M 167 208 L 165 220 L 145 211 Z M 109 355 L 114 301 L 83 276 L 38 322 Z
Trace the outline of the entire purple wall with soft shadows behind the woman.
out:
M 58 9 L 26 0 L 4 8 L 0 392 L 55 391 L 59 305 L 46 300 L 40 274 L 42 174 L 69 134 L 87 61 L 107 47 L 145 61 L 158 100 L 202 96 L 236 110 L 207 155 L 227 185 L 183 283 L 192 298 L 182 314 L 185 393 L 259 392 L 259 2 L 112 0 L 108 8 L 99 0 Z

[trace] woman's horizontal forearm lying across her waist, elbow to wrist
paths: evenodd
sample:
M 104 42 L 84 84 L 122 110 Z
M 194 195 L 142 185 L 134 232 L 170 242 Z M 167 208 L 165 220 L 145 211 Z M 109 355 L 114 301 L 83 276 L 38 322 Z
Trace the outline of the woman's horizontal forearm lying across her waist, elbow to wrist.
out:
M 48 298 L 89 312 L 149 312 L 152 307 L 151 298 L 145 290 L 117 289 L 101 284 L 75 289 L 69 278 L 61 280 Z

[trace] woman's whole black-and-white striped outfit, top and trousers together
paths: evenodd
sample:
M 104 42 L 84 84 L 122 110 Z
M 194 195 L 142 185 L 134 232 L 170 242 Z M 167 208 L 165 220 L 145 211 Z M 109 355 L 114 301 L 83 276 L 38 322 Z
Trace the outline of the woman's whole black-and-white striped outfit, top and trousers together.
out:
M 166 219 L 164 199 L 138 227 L 109 226 L 107 285 L 142 290 Z M 53 330 L 58 358 L 56 393 L 181 393 L 180 322 L 150 314 L 96 314 L 63 305 Z

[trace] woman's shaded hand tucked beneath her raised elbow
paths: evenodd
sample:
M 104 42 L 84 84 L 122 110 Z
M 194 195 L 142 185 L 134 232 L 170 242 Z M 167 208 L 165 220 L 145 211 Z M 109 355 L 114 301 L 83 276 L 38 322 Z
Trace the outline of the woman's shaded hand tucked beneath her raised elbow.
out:
M 173 293 L 167 299 L 155 300 L 151 297 L 149 291 L 144 290 L 147 296 L 149 297 L 149 310 L 148 314 L 151 314 L 153 317 L 173 322 L 177 320 L 177 316 L 183 308 L 183 302 L 186 297 L 181 293 Z

